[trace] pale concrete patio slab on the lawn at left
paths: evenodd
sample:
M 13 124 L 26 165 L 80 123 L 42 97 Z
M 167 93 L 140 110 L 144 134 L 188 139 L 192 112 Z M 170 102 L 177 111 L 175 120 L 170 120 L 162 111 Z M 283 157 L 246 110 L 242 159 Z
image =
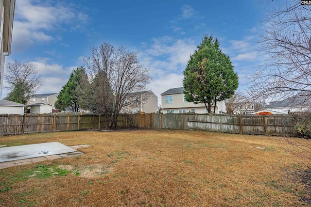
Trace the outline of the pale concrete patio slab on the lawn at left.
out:
M 1 147 L 0 162 L 39 157 L 42 157 L 42 159 L 37 160 L 43 161 L 47 160 L 45 156 L 64 154 L 75 151 L 76 149 L 73 149 L 59 142 Z

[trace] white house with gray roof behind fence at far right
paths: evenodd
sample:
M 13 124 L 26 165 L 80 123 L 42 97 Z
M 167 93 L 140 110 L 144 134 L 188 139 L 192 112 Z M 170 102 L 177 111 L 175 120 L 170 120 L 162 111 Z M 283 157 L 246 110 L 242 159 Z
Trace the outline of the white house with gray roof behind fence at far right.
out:
M 311 110 L 311 94 L 299 93 L 281 101 L 270 102 L 265 108 L 255 114 L 297 114 Z

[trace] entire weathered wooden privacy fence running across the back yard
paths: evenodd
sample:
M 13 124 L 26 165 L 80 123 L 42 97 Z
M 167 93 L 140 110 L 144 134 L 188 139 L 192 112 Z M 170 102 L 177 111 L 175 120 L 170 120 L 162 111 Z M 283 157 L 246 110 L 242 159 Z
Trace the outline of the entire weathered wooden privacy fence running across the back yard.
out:
M 121 114 L 118 127 L 157 129 L 203 129 L 208 131 L 294 136 L 296 115 L 220 115 L 220 114 Z M 0 115 L 0 135 L 37 132 L 100 130 L 109 126 L 111 117 L 97 114 Z

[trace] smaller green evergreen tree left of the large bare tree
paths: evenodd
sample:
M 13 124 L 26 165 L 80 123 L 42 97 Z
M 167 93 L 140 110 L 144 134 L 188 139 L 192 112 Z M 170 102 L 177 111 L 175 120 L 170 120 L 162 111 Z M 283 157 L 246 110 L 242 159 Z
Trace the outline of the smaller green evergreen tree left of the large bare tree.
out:
M 83 67 L 77 67 L 70 74 L 69 80 L 66 85 L 63 86 L 62 90 L 57 96 L 55 102 L 55 108 L 64 110 L 69 108 L 70 111 L 80 111 L 80 103 L 78 98 L 78 87 L 81 84 L 82 79 L 86 77 L 86 71 Z

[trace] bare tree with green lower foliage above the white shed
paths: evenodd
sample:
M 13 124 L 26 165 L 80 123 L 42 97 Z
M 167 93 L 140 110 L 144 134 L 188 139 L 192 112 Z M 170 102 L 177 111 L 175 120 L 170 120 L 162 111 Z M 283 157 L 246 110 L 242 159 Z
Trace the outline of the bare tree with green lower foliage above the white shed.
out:
M 26 104 L 28 98 L 43 85 L 43 81 L 33 62 L 22 63 L 14 60 L 5 65 L 5 79 L 9 90 L 7 99 Z

